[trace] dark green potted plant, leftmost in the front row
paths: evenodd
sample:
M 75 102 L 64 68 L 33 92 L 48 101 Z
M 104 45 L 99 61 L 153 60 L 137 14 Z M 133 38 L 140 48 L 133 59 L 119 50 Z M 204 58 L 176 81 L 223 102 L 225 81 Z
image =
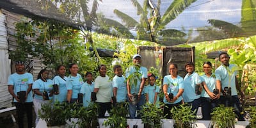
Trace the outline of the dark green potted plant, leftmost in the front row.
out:
M 42 104 L 38 115 L 45 120 L 47 127 L 65 127 L 66 120 L 70 118 L 70 109 L 66 102 L 47 102 Z

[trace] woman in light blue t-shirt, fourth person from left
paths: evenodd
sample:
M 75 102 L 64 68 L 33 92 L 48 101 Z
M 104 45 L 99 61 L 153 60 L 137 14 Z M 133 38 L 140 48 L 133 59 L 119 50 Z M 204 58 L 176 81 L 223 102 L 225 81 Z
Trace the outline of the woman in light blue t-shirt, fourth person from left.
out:
M 78 94 L 81 93 L 81 86 L 84 84 L 83 78 L 80 74 L 78 74 L 78 65 L 76 63 L 72 63 L 69 65 L 70 75 L 67 79 L 67 102 L 74 103 L 78 102 Z

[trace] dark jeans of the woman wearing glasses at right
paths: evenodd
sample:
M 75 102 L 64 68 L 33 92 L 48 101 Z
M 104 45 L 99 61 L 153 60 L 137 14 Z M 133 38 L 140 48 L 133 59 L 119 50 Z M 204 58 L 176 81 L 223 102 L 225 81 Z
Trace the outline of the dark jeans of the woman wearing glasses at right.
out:
M 218 100 L 211 100 L 209 97 L 201 97 L 202 120 L 211 120 L 212 109 L 217 107 Z

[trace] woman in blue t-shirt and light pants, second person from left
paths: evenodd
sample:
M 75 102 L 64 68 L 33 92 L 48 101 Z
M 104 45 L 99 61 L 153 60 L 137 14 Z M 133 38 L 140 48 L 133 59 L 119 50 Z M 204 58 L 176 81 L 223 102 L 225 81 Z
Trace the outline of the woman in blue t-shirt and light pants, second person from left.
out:
M 46 69 L 40 70 L 37 80 L 33 83 L 32 89 L 35 93 L 33 99 L 34 109 L 36 113 L 36 124 L 39 121 L 38 110 L 42 107 L 42 104 L 49 102 L 52 99 L 53 91 L 52 85 L 53 82 L 49 79 L 49 71 Z

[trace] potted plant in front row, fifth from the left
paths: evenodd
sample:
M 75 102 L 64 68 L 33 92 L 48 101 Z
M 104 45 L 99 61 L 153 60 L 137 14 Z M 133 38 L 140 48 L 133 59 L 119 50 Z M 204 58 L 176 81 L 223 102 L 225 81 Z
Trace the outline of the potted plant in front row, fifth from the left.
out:
M 188 104 L 182 104 L 180 106 L 173 107 L 170 111 L 174 120 L 173 127 L 175 128 L 193 128 L 196 127 L 196 115 L 195 111 L 191 111 L 192 106 Z

